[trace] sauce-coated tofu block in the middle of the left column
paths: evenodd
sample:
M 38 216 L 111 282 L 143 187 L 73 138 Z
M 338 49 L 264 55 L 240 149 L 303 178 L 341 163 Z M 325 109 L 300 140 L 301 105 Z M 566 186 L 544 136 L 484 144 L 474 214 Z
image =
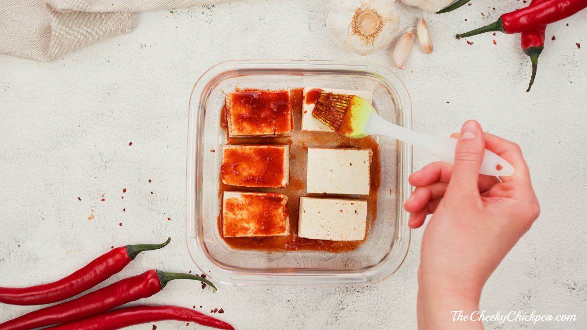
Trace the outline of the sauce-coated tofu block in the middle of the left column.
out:
M 220 177 L 231 186 L 285 187 L 289 184 L 289 146 L 224 146 Z

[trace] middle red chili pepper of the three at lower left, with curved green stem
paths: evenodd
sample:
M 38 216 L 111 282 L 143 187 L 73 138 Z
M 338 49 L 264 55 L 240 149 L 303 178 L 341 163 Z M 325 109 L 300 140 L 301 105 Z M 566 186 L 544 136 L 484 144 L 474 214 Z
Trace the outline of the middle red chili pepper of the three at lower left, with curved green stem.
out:
M 90 292 L 77 299 L 39 309 L 6 321 L 0 324 L 0 330 L 25 330 L 86 318 L 90 315 L 106 312 L 127 302 L 150 297 L 161 291 L 167 285 L 167 282 L 178 279 L 205 282 L 214 291 L 216 290 L 214 285 L 203 277 L 149 270 L 143 274 L 125 278 L 107 287 Z

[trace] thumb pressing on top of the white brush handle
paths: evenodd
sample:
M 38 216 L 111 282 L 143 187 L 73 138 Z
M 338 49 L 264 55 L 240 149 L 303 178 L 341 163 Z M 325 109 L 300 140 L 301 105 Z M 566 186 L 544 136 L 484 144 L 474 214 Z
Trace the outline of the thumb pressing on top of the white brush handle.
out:
M 454 154 L 453 174 L 447 193 L 461 196 L 479 196 L 479 168 L 485 152 L 483 130 L 475 120 L 467 120 L 461 127 Z

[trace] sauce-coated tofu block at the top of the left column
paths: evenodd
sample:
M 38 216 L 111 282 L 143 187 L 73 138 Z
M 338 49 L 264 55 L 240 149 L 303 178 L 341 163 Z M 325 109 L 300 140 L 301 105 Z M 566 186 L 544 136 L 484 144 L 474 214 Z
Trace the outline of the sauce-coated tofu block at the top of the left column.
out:
M 285 136 L 294 130 L 289 90 L 244 90 L 225 95 L 230 137 Z

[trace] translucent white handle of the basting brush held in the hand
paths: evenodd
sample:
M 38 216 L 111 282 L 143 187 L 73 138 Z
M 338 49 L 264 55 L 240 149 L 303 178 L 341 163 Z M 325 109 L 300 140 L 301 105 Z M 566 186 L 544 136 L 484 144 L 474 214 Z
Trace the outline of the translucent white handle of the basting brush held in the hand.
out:
M 454 164 L 454 153 L 457 146 L 457 139 L 454 137 L 434 136 L 406 129 L 406 127 L 387 122 L 387 120 L 384 120 L 375 112 L 370 113 L 363 134 L 393 137 L 394 139 L 410 143 L 421 150 L 426 150 L 448 164 Z M 508 161 L 493 151 L 485 149 L 483 163 L 481 163 L 481 168 L 479 169 L 480 174 L 486 174 L 488 176 L 511 176 L 514 172 L 514 166 L 508 163 Z

